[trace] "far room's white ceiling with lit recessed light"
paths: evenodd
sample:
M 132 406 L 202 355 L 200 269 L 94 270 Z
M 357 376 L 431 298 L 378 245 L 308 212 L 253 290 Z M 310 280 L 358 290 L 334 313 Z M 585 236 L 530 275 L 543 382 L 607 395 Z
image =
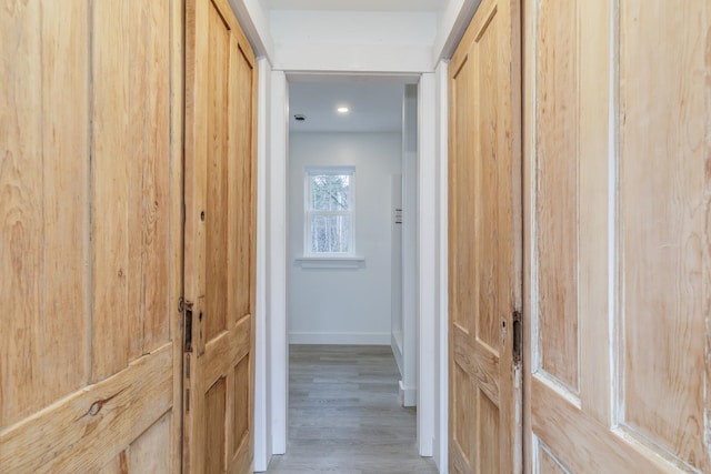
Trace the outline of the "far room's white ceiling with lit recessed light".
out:
M 402 129 L 404 85 L 389 82 L 289 83 L 291 132 L 394 132 Z M 340 114 L 338 107 L 350 111 Z M 306 117 L 297 121 L 294 115 Z

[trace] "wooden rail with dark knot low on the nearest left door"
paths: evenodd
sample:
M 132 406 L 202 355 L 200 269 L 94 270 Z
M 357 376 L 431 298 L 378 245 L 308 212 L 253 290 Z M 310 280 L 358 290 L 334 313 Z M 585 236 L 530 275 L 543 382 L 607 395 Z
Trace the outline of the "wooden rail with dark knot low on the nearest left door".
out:
M 169 344 L 3 431 L 0 466 L 12 473 L 99 471 L 171 409 L 172 373 Z

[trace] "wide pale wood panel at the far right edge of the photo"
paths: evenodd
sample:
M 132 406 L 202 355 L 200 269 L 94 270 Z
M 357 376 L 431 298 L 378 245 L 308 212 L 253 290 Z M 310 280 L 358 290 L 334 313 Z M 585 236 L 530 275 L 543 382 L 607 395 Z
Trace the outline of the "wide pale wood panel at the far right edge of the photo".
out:
M 620 11 L 620 422 L 704 471 L 709 9 Z

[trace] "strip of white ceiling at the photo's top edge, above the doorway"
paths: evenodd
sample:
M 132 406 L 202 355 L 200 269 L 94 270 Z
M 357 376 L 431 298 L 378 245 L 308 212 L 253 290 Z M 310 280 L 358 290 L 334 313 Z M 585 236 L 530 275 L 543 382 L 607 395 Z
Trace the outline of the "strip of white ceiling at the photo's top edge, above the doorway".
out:
M 264 0 L 272 10 L 439 11 L 447 0 Z

